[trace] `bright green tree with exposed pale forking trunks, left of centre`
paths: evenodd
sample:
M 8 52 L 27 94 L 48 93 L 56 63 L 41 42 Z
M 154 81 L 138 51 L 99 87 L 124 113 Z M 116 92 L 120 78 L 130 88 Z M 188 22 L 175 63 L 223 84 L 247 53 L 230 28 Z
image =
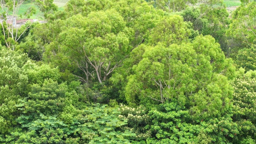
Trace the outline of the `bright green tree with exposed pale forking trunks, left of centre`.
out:
M 126 27 L 122 16 L 116 10 L 91 12 L 87 16 L 74 15 L 64 22 L 58 41 L 61 51 L 86 75 L 83 81 L 96 73 L 102 83 L 128 55 L 133 31 Z

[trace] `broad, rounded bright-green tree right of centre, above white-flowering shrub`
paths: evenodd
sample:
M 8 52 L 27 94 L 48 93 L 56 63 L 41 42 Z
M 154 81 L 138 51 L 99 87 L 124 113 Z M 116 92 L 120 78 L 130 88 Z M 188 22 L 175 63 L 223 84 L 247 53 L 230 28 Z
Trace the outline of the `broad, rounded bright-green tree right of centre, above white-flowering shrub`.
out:
M 234 70 L 232 60 L 210 36 L 198 36 L 192 43 L 145 45 L 128 76 L 125 97 L 130 103 L 136 97 L 176 101 L 196 117 L 218 116 L 231 107 L 228 79 Z

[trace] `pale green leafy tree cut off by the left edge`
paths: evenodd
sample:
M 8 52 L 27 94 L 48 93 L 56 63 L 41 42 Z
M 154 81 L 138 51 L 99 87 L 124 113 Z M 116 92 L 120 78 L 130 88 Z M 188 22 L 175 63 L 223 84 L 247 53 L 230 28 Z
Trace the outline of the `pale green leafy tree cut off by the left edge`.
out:
M 16 124 L 17 104 L 27 89 L 28 77 L 23 70 L 26 54 L 6 48 L 0 49 L 0 134 Z

